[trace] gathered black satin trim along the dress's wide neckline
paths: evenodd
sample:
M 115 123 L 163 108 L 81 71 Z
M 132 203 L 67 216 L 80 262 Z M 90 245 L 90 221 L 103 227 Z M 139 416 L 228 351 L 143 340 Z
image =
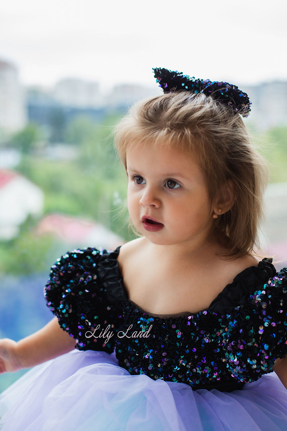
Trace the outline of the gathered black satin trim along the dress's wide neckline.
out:
M 127 297 L 119 262 L 117 261 L 120 247 L 121 246 L 118 246 L 115 250 L 110 252 L 103 250 L 102 259 L 99 259 L 97 264 L 98 281 L 101 281 L 105 287 L 107 301 L 111 304 L 118 303 L 119 301 L 130 301 Z M 258 266 L 250 266 L 236 275 L 233 281 L 224 287 L 205 310 L 216 312 L 220 315 L 228 314 L 235 307 L 244 304 L 248 297 L 258 290 L 260 285 L 265 284 L 270 277 L 274 277 L 275 275 L 276 269 L 272 264 L 272 258 L 265 257 L 258 263 Z M 133 302 L 130 301 L 130 303 Z M 134 303 L 133 306 L 137 307 Z M 145 311 L 142 310 L 142 312 Z M 149 313 L 146 314 L 150 315 Z M 186 312 L 184 312 L 184 314 L 186 314 Z M 196 315 L 196 313 L 189 313 L 189 315 L 190 314 Z M 177 315 L 182 315 L 182 313 L 177 313 L 175 317 L 177 317 Z M 160 318 L 164 315 L 153 316 L 158 316 Z

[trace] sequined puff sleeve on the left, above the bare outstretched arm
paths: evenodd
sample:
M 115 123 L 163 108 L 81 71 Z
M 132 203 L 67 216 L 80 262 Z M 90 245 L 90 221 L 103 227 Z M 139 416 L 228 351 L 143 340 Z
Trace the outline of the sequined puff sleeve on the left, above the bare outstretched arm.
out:
M 108 303 L 105 283 L 99 276 L 107 256 L 103 253 L 107 251 L 88 247 L 61 256 L 51 267 L 44 297 L 63 331 L 77 340 L 76 349 L 112 353 L 118 317 L 117 310 Z

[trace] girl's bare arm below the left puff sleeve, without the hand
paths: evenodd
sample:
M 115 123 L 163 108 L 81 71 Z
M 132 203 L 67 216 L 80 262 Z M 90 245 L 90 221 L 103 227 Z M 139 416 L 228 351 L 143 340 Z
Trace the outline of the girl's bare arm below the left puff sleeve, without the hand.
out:
M 55 316 L 42 329 L 19 340 L 15 345 L 15 352 L 22 368 L 30 368 L 70 352 L 76 343 L 76 340 L 60 327 Z

